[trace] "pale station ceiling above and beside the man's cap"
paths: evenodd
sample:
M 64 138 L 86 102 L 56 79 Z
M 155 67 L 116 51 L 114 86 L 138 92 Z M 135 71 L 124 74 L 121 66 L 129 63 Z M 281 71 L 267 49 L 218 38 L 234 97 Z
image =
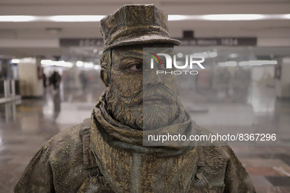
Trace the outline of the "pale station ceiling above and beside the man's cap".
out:
M 124 4 L 154 3 L 168 15 L 290 14 L 290 0 L 0 0 L 0 16 L 108 15 Z M 60 38 L 102 38 L 99 22 L 0 22 L 0 55 L 87 55 Z M 261 47 L 290 47 L 290 20 L 169 21 L 171 37 L 257 37 Z M 97 47 L 96 47 L 97 48 Z M 101 50 L 102 47 L 97 49 Z

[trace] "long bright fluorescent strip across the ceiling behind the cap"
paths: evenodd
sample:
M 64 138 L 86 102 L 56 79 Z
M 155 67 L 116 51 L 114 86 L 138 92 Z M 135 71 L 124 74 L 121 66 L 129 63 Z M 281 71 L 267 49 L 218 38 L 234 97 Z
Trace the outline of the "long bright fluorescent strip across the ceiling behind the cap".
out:
M 0 16 L 0 22 L 100 22 L 105 15 Z M 168 21 L 290 20 L 290 14 L 168 15 Z

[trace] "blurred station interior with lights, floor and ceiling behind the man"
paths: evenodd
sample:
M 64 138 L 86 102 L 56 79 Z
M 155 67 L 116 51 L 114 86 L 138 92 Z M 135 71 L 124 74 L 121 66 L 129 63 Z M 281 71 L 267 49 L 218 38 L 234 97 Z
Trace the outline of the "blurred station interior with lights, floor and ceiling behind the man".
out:
M 257 193 L 290 193 L 290 0 L 0 0 L 0 192 L 12 193 L 43 143 L 88 118 L 99 78 L 100 20 L 124 4 L 168 15 L 178 76 L 199 125 L 219 133 L 277 134 L 276 144 L 230 144 Z

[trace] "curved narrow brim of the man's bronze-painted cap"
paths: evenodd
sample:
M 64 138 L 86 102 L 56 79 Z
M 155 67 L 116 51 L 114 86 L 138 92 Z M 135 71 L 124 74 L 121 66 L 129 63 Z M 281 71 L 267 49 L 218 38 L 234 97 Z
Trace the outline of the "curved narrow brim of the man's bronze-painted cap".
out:
M 149 35 L 142 35 L 139 37 L 134 37 L 132 39 L 125 39 L 121 41 L 116 41 L 114 44 L 111 44 L 106 49 L 120 47 L 120 46 L 129 46 L 129 45 L 135 45 L 135 44 L 150 44 L 150 43 L 169 43 L 173 46 L 179 46 L 181 42 L 176 39 L 171 39 L 168 37 L 164 37 L 157 34 L 149 34 Z

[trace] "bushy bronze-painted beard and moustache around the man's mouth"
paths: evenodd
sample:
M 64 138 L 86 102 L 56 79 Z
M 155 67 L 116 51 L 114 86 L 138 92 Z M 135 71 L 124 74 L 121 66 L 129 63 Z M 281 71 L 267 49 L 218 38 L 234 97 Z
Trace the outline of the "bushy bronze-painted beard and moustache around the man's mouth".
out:
M 143 93 L 144 92 L 144 93 Z M 142 98 L 162 96 L 158 103 L 147 103 Z M 152 130 L 170 125 L 179 113 L 178 92 L 167 88 L 151 88 L 136 96 L 122 97 L 113 85 L 107 88 L 107 110 L 115 120 L 137 130 Z

